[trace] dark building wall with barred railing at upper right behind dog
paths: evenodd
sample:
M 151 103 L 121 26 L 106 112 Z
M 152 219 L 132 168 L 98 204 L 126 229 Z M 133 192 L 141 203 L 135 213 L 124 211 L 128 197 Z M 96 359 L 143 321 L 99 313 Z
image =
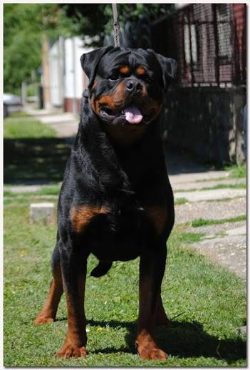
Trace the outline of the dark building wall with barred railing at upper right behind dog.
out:
M 151 33 L 154 50 L 178 62 L 165 140 L 206 162 L 243 160 L 246 4 L 188 4 L 153 23 Z

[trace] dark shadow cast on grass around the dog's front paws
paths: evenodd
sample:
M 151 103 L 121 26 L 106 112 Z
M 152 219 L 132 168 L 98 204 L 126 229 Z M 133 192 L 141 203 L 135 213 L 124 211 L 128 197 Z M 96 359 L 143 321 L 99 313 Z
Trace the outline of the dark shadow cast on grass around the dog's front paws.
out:
M 136 353 L 136 322 L 118 322 L 87 320 L 87 324 L 100 327 L 125 327 L 127 347 L 115 349 L 108 347 L 92 353 Z M 171 322 L 169 327 L 157 327 L 157 343 L 167 354 L 178 357 L 214 357 L 223 359 L 228 364 L 239 359 L 246 359 L 246 341 L 241 336 L 236 339 L 221 339 L 204 332 L 199 322 Z

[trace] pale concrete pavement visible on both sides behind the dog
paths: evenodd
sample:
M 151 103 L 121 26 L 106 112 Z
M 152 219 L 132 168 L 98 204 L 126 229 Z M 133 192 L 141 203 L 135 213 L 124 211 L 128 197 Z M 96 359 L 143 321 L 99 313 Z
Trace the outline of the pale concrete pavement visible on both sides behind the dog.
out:
M 78 129 L 77 115 L 31 107 L 25 110 L 44 125 L 54 128 L 58 138 L 73 140 Z M 246 179 L 230 178 L 229 171 L 210 170 L 186 153 L 168 148 L 165 148 L 165 158 L 175 200 L 184 200 L 184 204 L 177 202 L 175 206 L 176 225 L 188 225 L 188 222 L 191 225 L 192 220 L 199 218 L 221 220 L 246 215 L 246 189 L 242 188 Z M 29 185 L 8 187 L 8 190 L 24 192 L 40 188 L 39 185 Z M 246 221 L 190 226 L 185 232 L 204 234 L 199 242 L 189 247 L 246 281 Z

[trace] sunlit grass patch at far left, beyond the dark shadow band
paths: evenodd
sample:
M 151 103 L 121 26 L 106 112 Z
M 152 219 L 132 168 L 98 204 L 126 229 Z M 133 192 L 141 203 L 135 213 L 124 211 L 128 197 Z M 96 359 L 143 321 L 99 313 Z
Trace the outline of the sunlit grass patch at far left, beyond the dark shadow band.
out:
M 9 115 L 4 120 L 4 138 L 54 138 L 56 131 L 31 116 Z

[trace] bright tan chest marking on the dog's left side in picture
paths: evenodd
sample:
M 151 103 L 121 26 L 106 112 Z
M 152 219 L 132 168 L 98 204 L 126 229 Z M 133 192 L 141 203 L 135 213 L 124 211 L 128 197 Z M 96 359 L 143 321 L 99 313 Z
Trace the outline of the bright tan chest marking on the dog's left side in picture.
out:
M 105 213 L 108 213 L 108 208 L 105 206 L 83 205 L 81 207 L 72 207 L 70 217 L 73 230 L 75 232 L 83 231 L 93 217 Z

